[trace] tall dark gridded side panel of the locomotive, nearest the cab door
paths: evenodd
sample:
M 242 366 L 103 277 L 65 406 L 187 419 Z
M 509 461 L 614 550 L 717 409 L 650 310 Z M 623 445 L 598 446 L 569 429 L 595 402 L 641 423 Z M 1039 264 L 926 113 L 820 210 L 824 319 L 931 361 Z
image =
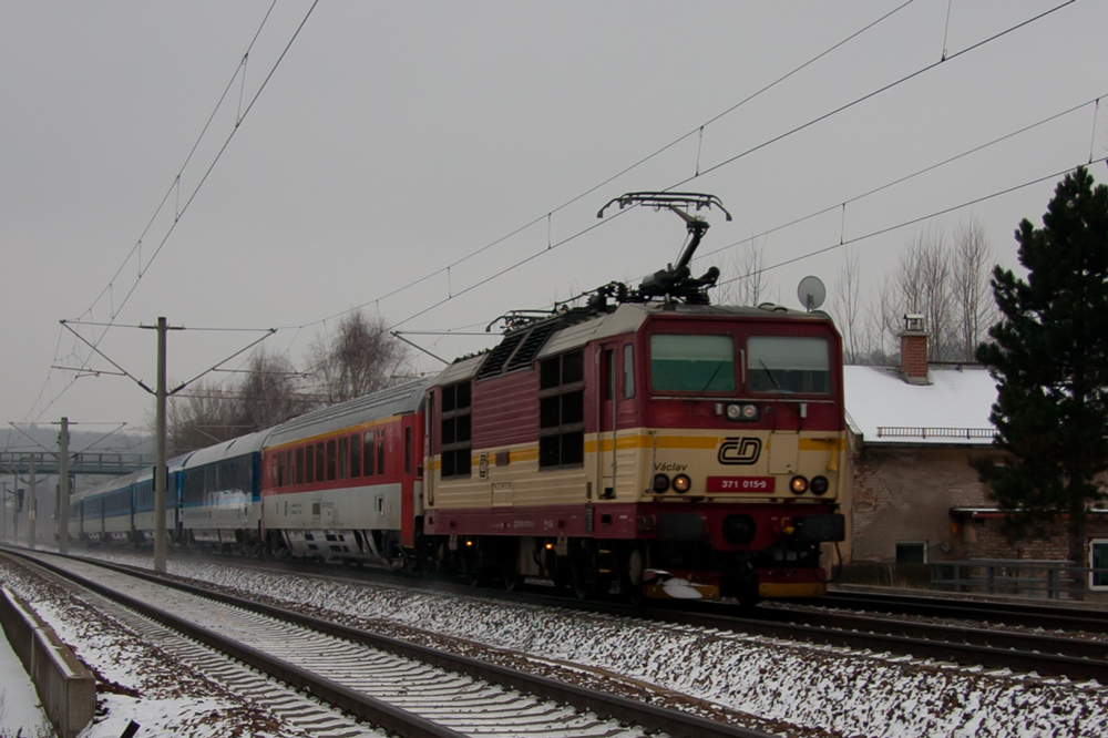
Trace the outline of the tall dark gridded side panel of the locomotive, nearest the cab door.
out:
M 584 464 L 585 352 L 543 361 L 538 386 L 538 468 Z

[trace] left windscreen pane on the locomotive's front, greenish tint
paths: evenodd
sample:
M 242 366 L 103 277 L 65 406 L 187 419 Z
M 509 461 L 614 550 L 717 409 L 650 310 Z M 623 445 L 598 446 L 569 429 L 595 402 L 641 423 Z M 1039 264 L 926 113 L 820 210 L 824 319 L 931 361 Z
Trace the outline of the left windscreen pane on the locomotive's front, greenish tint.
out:
M 733 392 L 730 336 L 650 336 L 650 383 L 661 392 Z

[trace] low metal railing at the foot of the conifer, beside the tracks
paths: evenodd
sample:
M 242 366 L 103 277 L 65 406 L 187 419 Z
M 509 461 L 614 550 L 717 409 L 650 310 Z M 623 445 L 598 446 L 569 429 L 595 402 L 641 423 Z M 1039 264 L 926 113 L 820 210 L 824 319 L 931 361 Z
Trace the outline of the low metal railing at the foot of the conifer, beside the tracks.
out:
M 931 588 L 941 592 L 1070 599 L 1075 580 L 1088 591 L 1090 577 L 1108 587 L 1108 568 L 1088 568 L 1068 561 L 971 558 L 931 564 Z

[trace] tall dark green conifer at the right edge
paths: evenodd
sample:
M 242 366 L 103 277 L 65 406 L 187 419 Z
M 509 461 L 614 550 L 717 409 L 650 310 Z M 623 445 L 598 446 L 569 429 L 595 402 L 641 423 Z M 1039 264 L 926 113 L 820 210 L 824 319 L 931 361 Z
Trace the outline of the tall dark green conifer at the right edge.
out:
M 1087 509 L 1105 499 L 1108 469 L 1108 187 L 1092 184 L 1078 168 L 1056 188 L 1042 228 L 1019 224 L 1027 280 L 993 271 L 999 321 L 977 349 L 997 380 L 991 418 L 1009 454 L 1004 465 L 978 462 L 983 481 L 1008 512 L 1012 537 L 1043 535 L 1060 515 L 1078 566 Z

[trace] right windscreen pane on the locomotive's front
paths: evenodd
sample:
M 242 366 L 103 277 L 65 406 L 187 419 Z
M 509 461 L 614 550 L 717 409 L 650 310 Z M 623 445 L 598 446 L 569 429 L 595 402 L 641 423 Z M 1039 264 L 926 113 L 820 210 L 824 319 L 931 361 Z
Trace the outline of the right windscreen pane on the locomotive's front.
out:
M 824 338 L 751 336 L 747 339 L 751 392 L 831 392 Z

